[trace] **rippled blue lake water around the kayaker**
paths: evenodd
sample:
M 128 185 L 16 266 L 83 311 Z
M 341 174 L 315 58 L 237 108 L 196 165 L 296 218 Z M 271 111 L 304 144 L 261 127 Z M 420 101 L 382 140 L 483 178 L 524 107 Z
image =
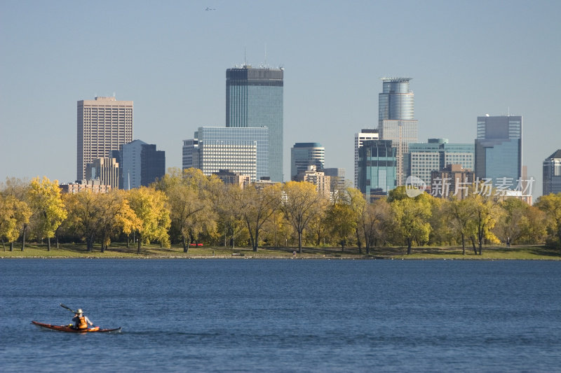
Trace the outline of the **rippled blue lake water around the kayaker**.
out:
M 561 262 L 0 260 L 2 372 L 553 372 Z M 30 321 L 121 333 L 41 330 Z

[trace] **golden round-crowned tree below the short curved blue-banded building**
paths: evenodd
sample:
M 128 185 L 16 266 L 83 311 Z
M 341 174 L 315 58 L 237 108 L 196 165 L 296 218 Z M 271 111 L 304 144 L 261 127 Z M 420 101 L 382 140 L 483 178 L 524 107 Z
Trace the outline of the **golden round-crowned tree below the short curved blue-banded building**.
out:
M 302 253 L 302 232 L 319 212 L 319 200 L 316 185 L 306 181 L 288 181 L 283 185 L 280 209 L 298 235 L 298 253 Z

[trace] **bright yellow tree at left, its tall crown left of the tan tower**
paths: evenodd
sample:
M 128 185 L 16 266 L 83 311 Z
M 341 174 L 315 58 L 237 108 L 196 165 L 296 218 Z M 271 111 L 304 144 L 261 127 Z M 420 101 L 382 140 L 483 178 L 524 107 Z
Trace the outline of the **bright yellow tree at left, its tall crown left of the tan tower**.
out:
M 34 178 L 29 184 L 29 205 L 33 211 L 34 233 L 39 239 L 47 239 L 50 251 L 50 239 L 55 230 L 67 218 L 67 211 L 62 203 L 58 181 L 50 181 L 46 176 L 42 180 Z

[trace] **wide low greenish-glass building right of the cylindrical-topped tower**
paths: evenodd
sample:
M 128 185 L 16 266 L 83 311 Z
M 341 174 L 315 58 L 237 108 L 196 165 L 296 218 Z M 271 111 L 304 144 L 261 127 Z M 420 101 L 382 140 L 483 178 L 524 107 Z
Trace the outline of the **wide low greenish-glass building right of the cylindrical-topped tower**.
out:
M 428 139 L 428 143 L 410 143 L 409 152 L 403 157 L 405 176 L 417 176 L 427 185 L 431 172 L 444 169 L 450 164 L 460 164 L 463 169 L 473 170 L 473 143 L 448 143 L 448 139 Z

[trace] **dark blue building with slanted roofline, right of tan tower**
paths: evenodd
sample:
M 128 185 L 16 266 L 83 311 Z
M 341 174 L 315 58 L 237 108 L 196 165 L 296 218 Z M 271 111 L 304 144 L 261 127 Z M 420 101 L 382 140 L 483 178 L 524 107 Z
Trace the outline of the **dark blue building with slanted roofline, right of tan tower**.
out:
M 116 155 L 116 153 L 119 153 Z M 130 190 L 149 186 L 165 175 L 165 152 L 156 145 L 135 140 L 121 145 L 119 152 L 112 152 L 121 164 L 119 188 Z

